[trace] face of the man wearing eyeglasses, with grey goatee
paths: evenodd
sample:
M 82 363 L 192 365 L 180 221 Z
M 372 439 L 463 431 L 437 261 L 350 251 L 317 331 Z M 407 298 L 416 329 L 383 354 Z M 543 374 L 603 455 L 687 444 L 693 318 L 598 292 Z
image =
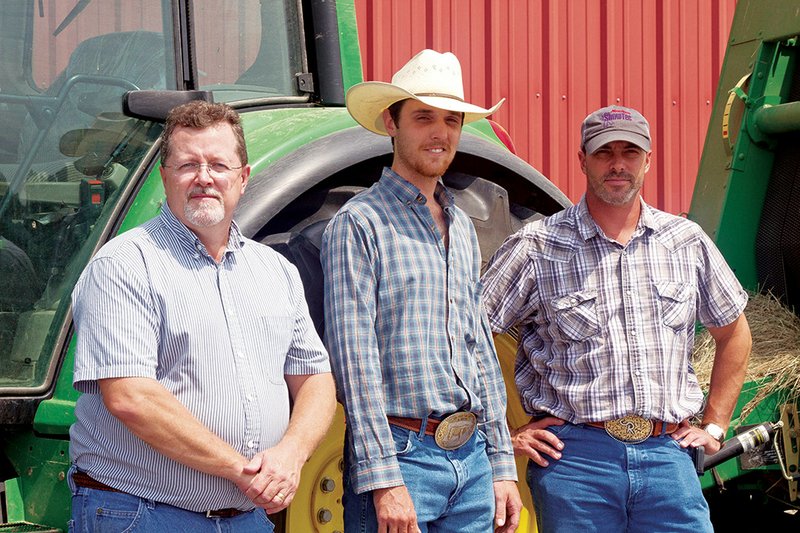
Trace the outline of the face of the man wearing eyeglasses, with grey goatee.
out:
M 189 228 L 230 225 L 250 176 L 236 154 L 236 137 L 229 124 L 209 128 L 177 128 L 171 138 L 169 161 L 161 167 L 167 204 Z M 199 168 L 193 165 L 202 164 Z M 222 164 L 229 172 L 212 166 Z

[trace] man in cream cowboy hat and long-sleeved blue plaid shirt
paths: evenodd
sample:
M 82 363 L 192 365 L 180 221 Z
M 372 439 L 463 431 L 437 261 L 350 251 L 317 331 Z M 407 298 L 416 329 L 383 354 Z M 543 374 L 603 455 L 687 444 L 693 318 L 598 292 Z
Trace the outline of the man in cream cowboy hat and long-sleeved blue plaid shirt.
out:
M 423 50 L 347 109 L 388 135 L 391 168 L 331 220 L 322 243 L 326 337 L 345 437 L 345 529 L 513 531 L 521 502 L 505 387 L 481 305 L 480 251 L 440 177 L 464 101 L 451 53 Z

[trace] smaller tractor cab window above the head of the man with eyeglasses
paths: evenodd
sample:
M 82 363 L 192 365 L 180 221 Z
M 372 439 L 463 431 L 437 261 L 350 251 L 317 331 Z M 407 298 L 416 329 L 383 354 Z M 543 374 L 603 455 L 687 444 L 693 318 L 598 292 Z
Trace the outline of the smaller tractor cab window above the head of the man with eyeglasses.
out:
M 306 71 L 298 0 L 194 3 L 197 74 L 217 101 L 299 96 Z

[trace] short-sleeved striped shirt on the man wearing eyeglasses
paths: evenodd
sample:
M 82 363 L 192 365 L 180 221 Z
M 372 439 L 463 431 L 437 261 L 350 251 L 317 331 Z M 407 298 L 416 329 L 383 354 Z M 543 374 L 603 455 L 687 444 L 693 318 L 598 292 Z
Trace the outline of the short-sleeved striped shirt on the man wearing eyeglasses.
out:
M 72 295 L 78 335 L 70 452 L 124 492 L 191 511 L 253 503 L 230 481 L 173 461 L 105 408 L 97 380 L 158 380 L 247 458 L 289 421 L 284 375 L 329 371 L 294 266 L 234 225 L 217 264 L 165 205 L 92 259 Z

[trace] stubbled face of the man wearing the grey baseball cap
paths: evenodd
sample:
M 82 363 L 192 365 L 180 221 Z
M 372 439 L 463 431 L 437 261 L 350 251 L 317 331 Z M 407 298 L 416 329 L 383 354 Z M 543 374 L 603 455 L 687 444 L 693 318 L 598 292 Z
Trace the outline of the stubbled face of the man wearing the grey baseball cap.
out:
M 635 200 L 650 170 L 650 152 L 627 141 L 612 141 L 593 154 L 578 152 L 586 174 L 586 194 L 600 202 L 622 206 Z

